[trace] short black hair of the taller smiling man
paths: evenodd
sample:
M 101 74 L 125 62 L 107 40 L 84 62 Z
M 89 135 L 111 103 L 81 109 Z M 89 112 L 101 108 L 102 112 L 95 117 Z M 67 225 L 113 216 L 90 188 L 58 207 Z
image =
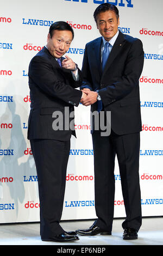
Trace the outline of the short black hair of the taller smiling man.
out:
M 94 14 L 93 14 L 93 17 L 97 23 L 97 15 L 99 13 L 104 13 L 105 11 L 114 11 L 116 16 L 117 16 L 117 20 L 118 20 L 118 17 L 119 17 L 119 11 L 118 11 L 118 8 L 114 5 L 114 4 L 109 4 L 109 3 L 104 3 L 104 4 L 100 4 Z

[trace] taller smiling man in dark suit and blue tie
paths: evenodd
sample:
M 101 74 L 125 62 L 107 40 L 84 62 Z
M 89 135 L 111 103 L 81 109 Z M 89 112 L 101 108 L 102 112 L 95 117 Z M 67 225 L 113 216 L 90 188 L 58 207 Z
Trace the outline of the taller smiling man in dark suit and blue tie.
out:
M 80 235 L 111 235 L 114 217 L 115 156 L 121 175 L 126 220 L 123 239 L 137 239 L 141 227 L 139 150 L 141 112 L 139 78 L 143 69 L 142 42 L 118 31 L 120 18 L 115 5 L 104 3 L 94 13 L 102 37 L 86 44 L 83 105 L 91 111 L 111 112 L 111 133 L 102 136 L 92 127 L 95 164 L 95 208 L 97 220 Z M 106 121 L 106 115 L 105 115 Z

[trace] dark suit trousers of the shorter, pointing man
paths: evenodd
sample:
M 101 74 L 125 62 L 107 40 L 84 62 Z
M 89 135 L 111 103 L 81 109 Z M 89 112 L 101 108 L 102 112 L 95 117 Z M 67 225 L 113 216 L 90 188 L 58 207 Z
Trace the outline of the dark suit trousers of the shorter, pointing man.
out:
M 49 239 L 64 232 L 59 222 L 64 203 L 70 141 L 30 139 L 40 199 L 40 235 Z

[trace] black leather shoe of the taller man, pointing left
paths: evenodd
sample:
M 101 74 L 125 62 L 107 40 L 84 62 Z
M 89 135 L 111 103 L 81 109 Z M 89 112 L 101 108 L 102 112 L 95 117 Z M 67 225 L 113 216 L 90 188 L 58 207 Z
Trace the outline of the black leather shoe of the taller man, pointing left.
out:
M 104 231 L 101 228 L 97 227 L 95 224 L 93 224 L 89 229 L 78 229 L 76 230 L 76 233 L 78 235 L 87 235 L 87 236 L 91 236 L 91 235 L 111 235 L 111 231 Z

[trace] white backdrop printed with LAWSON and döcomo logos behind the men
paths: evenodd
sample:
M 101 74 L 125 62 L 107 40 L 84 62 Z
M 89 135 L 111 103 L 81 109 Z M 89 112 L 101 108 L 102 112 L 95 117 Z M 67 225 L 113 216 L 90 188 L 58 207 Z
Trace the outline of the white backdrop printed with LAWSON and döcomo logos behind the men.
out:
M 0 223 L 40 220 L 36 169 L 27 140 L 30 59 L 46 44 L 49 26 L 63 20 L 70 23 L 75 34 L 67 55 L 82 68 L 86 42 L 100 36 L 93 12 L 104 2 L 117 5 L 121 32 L 143 42 L 145 65 L 140 78 L 142 215 L 161 216 L 163 213 L 162 0 L 1 0 Z M 77 139 L 71 139 L 62 220 L 96 218 L 90 108 L 79 105 L 75 111 Z M 117 161 L 115 182 L 114 216 L 124 217 Z

